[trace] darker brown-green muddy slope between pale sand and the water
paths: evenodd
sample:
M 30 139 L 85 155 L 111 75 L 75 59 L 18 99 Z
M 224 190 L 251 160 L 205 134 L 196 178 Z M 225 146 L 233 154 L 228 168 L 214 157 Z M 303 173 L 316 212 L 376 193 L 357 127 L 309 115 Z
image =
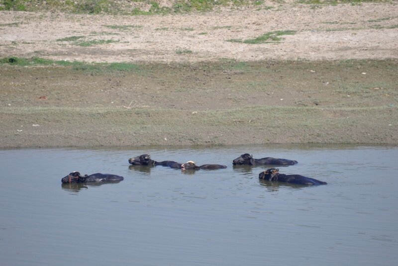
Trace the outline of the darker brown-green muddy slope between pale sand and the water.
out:
M 230 61 L 94 74 L 3 65 L 1 147 L 397 145 L 397 66 Z

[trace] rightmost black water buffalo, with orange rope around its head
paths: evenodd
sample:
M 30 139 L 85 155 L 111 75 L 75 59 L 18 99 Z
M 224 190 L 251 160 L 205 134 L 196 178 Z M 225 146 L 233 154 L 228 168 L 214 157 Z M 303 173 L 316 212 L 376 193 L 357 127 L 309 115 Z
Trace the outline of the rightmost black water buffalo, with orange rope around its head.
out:
M 260 179 L 265 179 L 268 181 L 279 181 L 279 182 L 287 182 L 293 184 L 301 184 L 301 185 L 325 185 L 326 182 L 319 181 L 314 178 L 304 177 L 300 175 L 285 175 L 279 174 L 279 169 L 271 168 L 267 169 L 264 172 L 261 172 L 258 176 Z

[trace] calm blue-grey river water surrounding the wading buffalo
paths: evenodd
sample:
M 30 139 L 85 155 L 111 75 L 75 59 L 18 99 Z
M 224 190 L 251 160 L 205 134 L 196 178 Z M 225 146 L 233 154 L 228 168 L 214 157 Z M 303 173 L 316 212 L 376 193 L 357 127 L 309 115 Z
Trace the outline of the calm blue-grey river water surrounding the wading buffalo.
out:
M 328 184 L 260 182 L 232 167 L 246 152 Z M 129 166 L 143 153 L 228 168 Z M 395 266 L 397 162 L 397 147 L 0 150 L 1 265 Z M 72 171 L 124 180 L 61 185 Z

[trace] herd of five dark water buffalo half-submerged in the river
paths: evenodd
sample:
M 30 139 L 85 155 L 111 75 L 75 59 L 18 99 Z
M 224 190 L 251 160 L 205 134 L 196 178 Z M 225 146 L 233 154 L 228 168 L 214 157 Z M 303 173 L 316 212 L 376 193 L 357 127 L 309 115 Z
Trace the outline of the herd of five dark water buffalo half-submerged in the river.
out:
M 215 169 L 224 169 L 227 168 L 224 165 L 214 165 L 214 164 L 206 164 L 197 166 L 195 162 L 189 161 L 185 164 L 180 164 L 174 161 L 161 161 L 157 162 L 151 159 L 151 156 L 148 154 L 143 154 L 134 158 L 128 159 L 130 165 L 133 166 L 164 166 L 170 167 L 174 169 L 181 169 L 182 171 L 189 171 L 189 170 L 215 170 Z M 288 159 L 277 159 L 272 157 L 266 157 L 262 159 L 254 159 L 252 155 L 245 153 L 236 158 L 232 161 L 234 166 L 239 165 L 249 165 L 249 166 L 256 166 L 256 165 L 273 165 L 273 166 L 288 166 L 288 165 L 295 165 L 297 161 L 288 160 Z M 294 184 L 301 184 L 301 185 L 320 185 L 326 184 L 326 182 L 310 178 L 304 177 L 300 175 L 285 175 L 280 174 L 279 169 L 277 168 L 270 168 L 267 169 L 259 174 L 260 179 L 268 180 L 268 181 L 279 181 L 279 182 L 288 182 Z M 62 178 L 63 183 L 85 183 L 85 182 L 109 182 L 109 181 L 121 181 L 123 177 L 110 175 L 110 174 L 93 174 L 93 175 L 84 175 L 82 176 L 79 172 L 72 172 L 68 176 Z

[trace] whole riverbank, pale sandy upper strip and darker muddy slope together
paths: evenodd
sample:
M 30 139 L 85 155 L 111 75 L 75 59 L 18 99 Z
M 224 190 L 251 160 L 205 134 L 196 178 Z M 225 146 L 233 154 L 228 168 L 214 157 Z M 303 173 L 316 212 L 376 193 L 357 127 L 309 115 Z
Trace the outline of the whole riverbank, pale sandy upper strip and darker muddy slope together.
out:
M 0 11 L 0 148 L 397 145 L 394 3 Z

